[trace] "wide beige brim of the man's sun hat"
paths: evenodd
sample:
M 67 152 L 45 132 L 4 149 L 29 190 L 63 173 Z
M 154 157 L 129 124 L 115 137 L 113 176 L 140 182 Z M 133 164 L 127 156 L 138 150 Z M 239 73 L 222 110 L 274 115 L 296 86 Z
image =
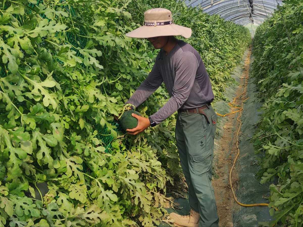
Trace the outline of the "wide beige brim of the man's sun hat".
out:
M 191 29 L 178 24 L 169 24 L 161 26 L 142 26 L 125 34 L 132 38 L 151 38 L 156 36 L 181 35 L 184 38 L 191 37 Z

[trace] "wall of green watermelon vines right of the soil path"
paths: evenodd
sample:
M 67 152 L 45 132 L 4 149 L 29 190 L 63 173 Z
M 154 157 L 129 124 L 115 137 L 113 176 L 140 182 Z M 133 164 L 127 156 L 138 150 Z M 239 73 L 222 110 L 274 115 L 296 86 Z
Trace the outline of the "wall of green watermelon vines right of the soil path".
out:
M 303 225 L 302 12 L 302 2 L 285 1 L 257 28 L 254 40 L 253 72 L 264 104 L 253 139 L 262 157 L 261 183 L 271 182 L 274 216 L 265 226 Z

